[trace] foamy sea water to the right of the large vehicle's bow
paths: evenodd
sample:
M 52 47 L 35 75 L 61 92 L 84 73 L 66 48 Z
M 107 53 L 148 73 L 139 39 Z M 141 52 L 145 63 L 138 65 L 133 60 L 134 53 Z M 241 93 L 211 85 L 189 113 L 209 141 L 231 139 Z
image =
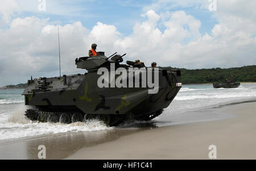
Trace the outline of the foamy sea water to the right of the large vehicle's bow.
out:
M 168 109 L 172 114 L 234 102 L 254 101 L 256 83 L 242 83 L 234 89 L 214 89 L 212 85 L 183 85 Z

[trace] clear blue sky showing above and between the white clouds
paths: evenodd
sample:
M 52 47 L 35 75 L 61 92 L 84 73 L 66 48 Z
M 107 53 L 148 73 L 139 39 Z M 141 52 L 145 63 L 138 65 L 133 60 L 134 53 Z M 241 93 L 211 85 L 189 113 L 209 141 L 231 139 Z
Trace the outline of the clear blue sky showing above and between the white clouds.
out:
M 18 0 L 22 11 L 16 13 L 16 17 L 37 16 L 39 18 L 49 18 L 52 24 L 69 24 L 80 21 L 83 26 L 92 29 L 97 22 L 114 25 L 123 36 L 133 32 L 133 26 L 137 22 L 145 20 L 141 15 L 146 12 L 145 6 L 150 6 L 154 0 L 46 0 L 46 11 L 39 11 L 40 2 L 31 0 Z M 201 21 L 200 33 L 202 35 L 210 31 L 218 21 L 212 18 L 212 12 L 208 9 L 199 9 L 198 6 L 174 6 L 175 3 L 168 3 L 168 10 L 159 9 L 155 12 L 159 14 L 166 11 L 186 11 L 187 14 L 194 16 Z M 159 26 L 163 31 L 165 28 Z

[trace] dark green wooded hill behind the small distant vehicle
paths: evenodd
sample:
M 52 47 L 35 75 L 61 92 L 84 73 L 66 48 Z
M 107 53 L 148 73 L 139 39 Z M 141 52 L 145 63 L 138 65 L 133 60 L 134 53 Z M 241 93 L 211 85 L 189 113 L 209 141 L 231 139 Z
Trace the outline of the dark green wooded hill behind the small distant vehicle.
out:
M 171 67 L 163 67 L 170 69 Z M 179 68 L 172 68 L 179 69 Z M 204 84 L 223 82 L 226 78 L 234 76 L 237 82 L 256 82 L 256 65 L 242 66 L 240 68 L 212 68 L 212 69 L 184 69 L 181 68 L 183 84 Z

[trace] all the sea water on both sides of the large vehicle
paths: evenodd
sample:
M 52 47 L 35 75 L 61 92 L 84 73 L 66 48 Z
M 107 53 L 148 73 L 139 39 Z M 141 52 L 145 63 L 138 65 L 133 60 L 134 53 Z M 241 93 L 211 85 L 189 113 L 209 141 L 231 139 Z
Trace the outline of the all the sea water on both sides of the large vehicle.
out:
M 28 107 L 24 106 L 22 92 L 22 89 L 0 90 L 0 143 L 6 140 L 56 135 L 67 132 L 115 129 L 105 126 L 98 120 L 86 124 L 31 122 L 24 117 L 24 112 Z M 213 107 L 245 101 L 256 101 L 256 84 L 241 84 L 236 89 L 213 89 L 212 85 L 183 85 L 174 101 L 164 110 L 163 114 L 149 123 L 158 123 L 160 126 L 165 122 L 170 122 L 171 124 L 186 123 L 191 122 L 191 120 L 198 122 L 201 118 L 206 117 L 207 112 L 195 111 L 205 111 Z M 189 112 L 191 115 L 187 115 L 185 112 Z M 216 114 L 210 117 L 214 119 L 219 116 Z M 130 125 L 132 125 L 130 127 L 133 127 L 133 124 Z

